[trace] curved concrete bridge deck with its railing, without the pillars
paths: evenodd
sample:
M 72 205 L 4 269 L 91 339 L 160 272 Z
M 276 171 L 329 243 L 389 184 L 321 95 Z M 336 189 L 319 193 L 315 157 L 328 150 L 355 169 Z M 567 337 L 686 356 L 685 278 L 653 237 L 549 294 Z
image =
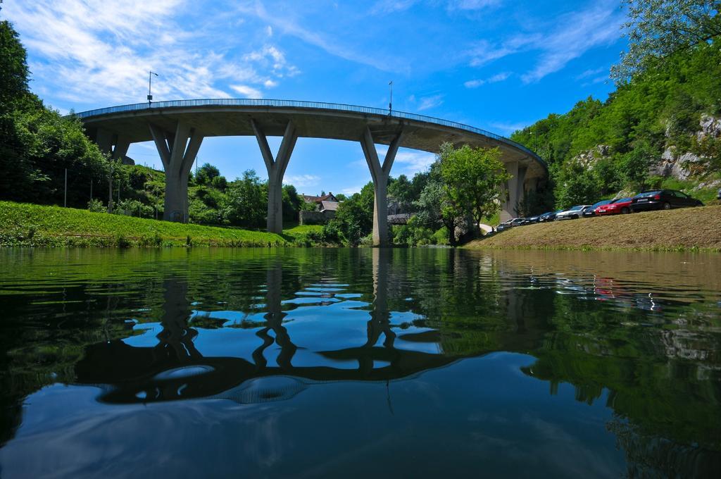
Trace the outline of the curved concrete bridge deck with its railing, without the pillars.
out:
M 283 136 L 288 120 L 293 120 L 300 137 L 348 141 L 358 141 L 368 126 L 378 144 L 390 144 L 403 126 L 400 146 L 404 148 L 435 153 L 444 141 L 456 145 L 498 146 L 504 162 L 518 161 L 528 166 L 528 177 L 542 177 L 547 172 L 545 163 L 533 151 L 495 133 L 440 118 L 399 111 L 389 113 L 373 107 L 293 100 L 176 100 L 107 107 L 76 115 L 91 133 L 102 128 L 122 134 L 131 143 L 152 140 L 149 123 L 174 131 L 179 120 L 202 136 L 252 136 L 251 118 L 266 135 Z

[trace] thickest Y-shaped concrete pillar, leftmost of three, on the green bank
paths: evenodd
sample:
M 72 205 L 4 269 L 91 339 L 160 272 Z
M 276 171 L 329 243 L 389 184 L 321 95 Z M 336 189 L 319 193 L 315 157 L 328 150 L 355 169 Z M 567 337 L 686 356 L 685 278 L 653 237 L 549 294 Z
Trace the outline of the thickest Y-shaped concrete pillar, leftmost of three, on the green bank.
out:
M 193 167 L 203 136 L 179 121 L 174 133 L 150 124 L 150 133 L 165 170 L 163 219 L 187 223 L 187 177 Z

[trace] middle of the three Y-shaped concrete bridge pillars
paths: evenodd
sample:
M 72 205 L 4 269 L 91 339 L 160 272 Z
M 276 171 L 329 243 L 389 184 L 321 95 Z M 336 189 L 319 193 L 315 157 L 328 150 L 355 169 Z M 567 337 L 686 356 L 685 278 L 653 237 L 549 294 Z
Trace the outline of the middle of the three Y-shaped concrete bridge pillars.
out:
M 267 138 L 260 126 L 252 119 L 250 123 L 268 173 L 267 231 L 280 234 L 283 232 L 283 175 L 286 174 L 288 162 L 291 160 L 293 148 L 298 140 L 298 133 L 293 122 L 288 121 L 286 132 L 283 133 L 283 141 L 280 142 L 278 155 L 273 159 L 273 153 L 270 151 Z

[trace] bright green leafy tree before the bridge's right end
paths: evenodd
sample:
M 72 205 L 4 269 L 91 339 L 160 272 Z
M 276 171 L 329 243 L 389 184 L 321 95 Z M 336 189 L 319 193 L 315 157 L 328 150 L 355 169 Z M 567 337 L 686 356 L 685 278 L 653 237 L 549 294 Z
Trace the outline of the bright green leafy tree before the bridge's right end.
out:
M 502 187 L 510 178 L 497 148 L 441 146 L 441 180 L 448 198 L 443 209 L 448 208 L 448 214 L 470 214 L 476 228 L 485 216 L 500 210 Z

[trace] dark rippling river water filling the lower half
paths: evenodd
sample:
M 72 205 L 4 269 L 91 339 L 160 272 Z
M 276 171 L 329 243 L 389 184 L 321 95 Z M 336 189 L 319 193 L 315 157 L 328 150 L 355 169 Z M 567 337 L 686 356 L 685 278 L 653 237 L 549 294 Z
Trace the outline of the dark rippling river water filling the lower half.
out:
M 721 255 L 0 251 L 0 476 L 716 475 Z

